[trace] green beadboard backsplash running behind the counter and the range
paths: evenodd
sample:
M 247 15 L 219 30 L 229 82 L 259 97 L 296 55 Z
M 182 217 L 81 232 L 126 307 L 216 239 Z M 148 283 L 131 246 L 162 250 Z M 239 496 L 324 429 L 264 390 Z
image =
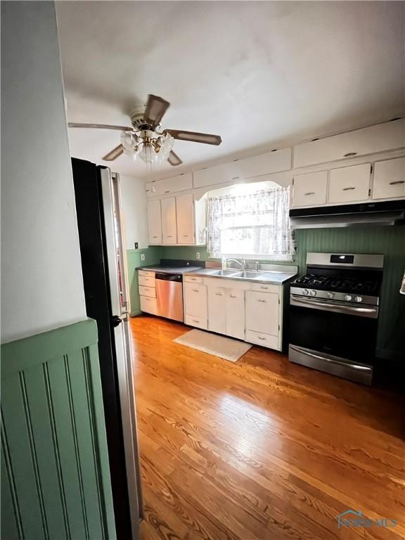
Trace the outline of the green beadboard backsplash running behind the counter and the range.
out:
M 356 229 L 300 229 L 295 231 L 297 254 L 293 262 L 300 274 L 305 270 L 307 252 L 376 253 L 384 255 L 384 278 L 381 291 L 381 311 L 378 326 L 378 354 L 387 359 L 405 361 L 405 296 L 399 294 L 405 270 L 405 226 L 359 227 Z M 146 254 L 141 262 L 140 253 Z M 155 264 L 160 259 L 210 259 L 207 249 L 199 247 L 162 246 L 148 250 L 129 250 L 128 260 L 131 285 L 131 314 L 139 314 L 138 278 L 136 266 Z M 134 253 L 134 255 L 132 255 Z M 130 258 L 130 255 L 132 259 Z M 136 264 L 137 262 L 137 264 Z

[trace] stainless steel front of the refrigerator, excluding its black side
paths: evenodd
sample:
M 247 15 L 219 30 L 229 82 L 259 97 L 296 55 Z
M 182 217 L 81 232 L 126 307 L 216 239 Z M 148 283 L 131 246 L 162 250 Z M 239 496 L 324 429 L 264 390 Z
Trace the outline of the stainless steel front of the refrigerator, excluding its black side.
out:
M 124 246 L 120 213 L 120 179 L 110 169 L 100 167 L 105 225 L 105 252 L 108 262 L 111 307 L 113 313 L 118 384 L 124 432 L 124 451 L 131 508 L 133 540 L 139 539 L 142 518 L 141 475 L 136 430 L 134 369 L 129 332 L 129 297 L 125 275 Z

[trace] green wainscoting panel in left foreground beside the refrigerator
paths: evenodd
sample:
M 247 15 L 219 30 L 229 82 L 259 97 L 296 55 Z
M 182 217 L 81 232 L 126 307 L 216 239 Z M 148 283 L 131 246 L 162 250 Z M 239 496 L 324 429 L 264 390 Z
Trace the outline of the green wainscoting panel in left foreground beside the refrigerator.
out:
M 1 539 L 115 539 L 97 327 L 1 345 Z

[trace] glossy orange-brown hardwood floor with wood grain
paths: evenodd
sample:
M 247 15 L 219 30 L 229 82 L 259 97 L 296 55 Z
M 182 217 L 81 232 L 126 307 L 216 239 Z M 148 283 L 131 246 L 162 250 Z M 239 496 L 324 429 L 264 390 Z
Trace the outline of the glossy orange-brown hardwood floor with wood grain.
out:
M 131 319 L 142 540 L 405 537 L 404 403 L 252 347 L 236 364 Z M 396 527 L 340 528 L 361 510 Z

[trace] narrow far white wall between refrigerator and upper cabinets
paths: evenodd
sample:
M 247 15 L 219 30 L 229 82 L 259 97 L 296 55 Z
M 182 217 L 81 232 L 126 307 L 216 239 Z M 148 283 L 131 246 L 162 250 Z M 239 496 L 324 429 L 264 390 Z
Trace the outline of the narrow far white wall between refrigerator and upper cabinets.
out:
M 120 175 L 120 179 L 127 249 L 133 250 L 135 242 L 139 243 L 139 249 L 148 248 L 145 183 L 143 179 L 133 176 Z

